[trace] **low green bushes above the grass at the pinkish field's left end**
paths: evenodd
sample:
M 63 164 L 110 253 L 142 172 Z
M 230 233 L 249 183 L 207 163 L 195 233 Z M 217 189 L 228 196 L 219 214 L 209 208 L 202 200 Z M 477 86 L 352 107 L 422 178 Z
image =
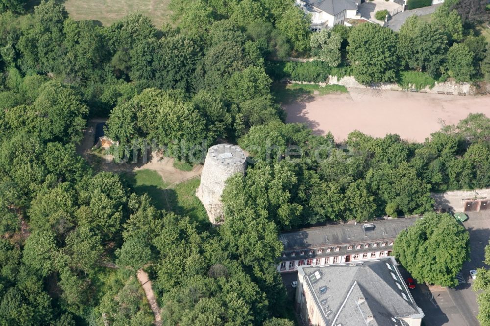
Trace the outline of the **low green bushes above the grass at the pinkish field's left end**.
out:
M 294 81 L 319 83 L 326 81 L 330 67 L 323 61 L 270 62 L 266 72 L 273 80 L 288 78 Z

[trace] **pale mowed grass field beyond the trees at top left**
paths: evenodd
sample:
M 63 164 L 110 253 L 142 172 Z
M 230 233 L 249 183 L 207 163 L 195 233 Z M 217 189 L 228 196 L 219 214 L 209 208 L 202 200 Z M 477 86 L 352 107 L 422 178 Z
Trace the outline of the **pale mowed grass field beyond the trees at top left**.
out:
M 76 21 L 92 20 L 108 26 L 134 12 L 148 16 L 157 28 L 170 22 L 170 0 L 66 0 L 63 4 Z

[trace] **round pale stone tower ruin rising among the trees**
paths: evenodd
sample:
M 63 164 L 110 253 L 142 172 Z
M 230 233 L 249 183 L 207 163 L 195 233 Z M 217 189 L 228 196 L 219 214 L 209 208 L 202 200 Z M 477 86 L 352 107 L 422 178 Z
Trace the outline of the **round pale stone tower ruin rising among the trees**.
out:
M 225 181 L 236 173 L 245 174 L 245 159 L 245 152 L 236 145 L 219 144 L 209 148 L 196 196 L 204 205 L 211 223 L 223 222 L 221 194 Z

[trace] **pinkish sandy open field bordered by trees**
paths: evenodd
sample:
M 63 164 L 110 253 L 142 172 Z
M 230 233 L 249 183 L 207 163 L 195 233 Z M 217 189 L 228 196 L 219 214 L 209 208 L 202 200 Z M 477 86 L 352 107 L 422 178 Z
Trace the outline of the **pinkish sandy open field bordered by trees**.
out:
M 490 117 L 490 96 L 457 96 L 349 89 L 284 105 L 287 122 L 307 123 L 317 135 L 331 131 L 342 141 L 353 130 L 374 137 L 398 134 L 422 142 L 445 123 L 455 124 L 469 113 Z

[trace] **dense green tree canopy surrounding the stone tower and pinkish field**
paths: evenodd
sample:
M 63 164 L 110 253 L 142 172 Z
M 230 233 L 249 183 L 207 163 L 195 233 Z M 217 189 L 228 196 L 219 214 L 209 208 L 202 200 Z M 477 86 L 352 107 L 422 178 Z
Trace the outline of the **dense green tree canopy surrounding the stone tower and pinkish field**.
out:
M 430 191 L 489 187 L 490 123 L 470 115 L 420 144 L 360 132 L 336 144 L 283 122 L 275 82 L 353 74 L 370 84 L 400 69 L 483 79 L 490 51 L 468 29 L 484 17 L 475 1 L 447 0 L 432 23 L 410 18 L 396 34 L 370 23 L 312 33 L 294 0 L 172 0 L 174 21 L 161 27 L 142 14 L 98 26 L 59 1 L 0 0 L 0 324 L 152 325 L 135 275 L 144 268 L 164 325 L 292 325 L 278 232 L 418 214 L 432 210 Z M 271 62 L 310 55 L 319 60 Z M 79 156 L 96 116 L 109 117 L 116 159 L 138 160 L 150 143 L 186 161 L 217 142 L 243 146 L 251 160 L 225 188 L 221 227 L 183 207 L 198 204 L 185 188 L 194 180 L 135 186 L 130 173 L 104 172 L 114 165 L 100 152 Z M 420 231 L 431 235 L 421 248 L 462 244 L 451 223 Z M 438 247 L 449 274 L 467 254 L 453 247 Z M 420 278 L 450 282 L 435 266 Z

